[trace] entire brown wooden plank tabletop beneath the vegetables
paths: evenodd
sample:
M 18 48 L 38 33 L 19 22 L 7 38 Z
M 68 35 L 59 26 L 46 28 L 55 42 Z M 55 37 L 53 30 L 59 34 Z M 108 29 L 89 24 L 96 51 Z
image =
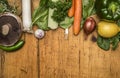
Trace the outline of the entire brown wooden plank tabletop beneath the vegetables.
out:
M 32 0 L 33 9 L 38 3 Z M 0 50 L 0 78 L 120 78 L 120 46 L 103 51 L 91 37 L 84 40 L 83 31 L 74 36 L 72 27 L 67 40 L 61 28 L 46 32 L 42 40 L 27 33 L 23 38 L 19 51 Z

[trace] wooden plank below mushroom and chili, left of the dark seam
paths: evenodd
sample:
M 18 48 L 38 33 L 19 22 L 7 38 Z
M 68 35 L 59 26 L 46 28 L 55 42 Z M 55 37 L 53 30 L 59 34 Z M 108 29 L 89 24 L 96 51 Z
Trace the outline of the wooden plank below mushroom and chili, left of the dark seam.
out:
M 21 4 L 21 0 L 17 2 Z M 23 34 L 22 39 L 25 40 L 22 49 L 11 53 L 4 52 L 1 78 L 38 78 L 38 40 L 32 34 Z

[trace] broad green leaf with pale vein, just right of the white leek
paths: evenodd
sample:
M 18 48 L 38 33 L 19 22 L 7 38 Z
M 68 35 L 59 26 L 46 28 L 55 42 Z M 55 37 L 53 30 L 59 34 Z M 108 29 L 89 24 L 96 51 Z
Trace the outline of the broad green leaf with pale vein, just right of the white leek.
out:
M 32 15 L 32 25 L 37 25 L 40 29 L 49 30 L 48 27 L 48 0 L 41 0 L 39 7 Z

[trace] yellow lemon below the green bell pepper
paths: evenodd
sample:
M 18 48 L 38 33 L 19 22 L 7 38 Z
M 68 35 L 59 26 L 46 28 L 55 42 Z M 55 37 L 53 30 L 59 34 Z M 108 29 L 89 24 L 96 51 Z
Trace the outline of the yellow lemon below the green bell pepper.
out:
M 120 31 L 116 23 L 108 21 L 100 21 L 98 23 L 98 34 L 105 38 L 111 38 Z

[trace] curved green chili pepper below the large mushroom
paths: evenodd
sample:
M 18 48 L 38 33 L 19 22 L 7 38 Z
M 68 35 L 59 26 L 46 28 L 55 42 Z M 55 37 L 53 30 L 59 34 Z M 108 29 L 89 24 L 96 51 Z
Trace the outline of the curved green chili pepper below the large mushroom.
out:
M 2 45 L 0 45 L 0 49 L 2 49 L 4 51 L 7 51 L 7 52 L 16 51 L 16 50 L 22 48 L 24 43 L 25 43 L 25 41 L 20 40 L 13 46 L 2 46 Z

